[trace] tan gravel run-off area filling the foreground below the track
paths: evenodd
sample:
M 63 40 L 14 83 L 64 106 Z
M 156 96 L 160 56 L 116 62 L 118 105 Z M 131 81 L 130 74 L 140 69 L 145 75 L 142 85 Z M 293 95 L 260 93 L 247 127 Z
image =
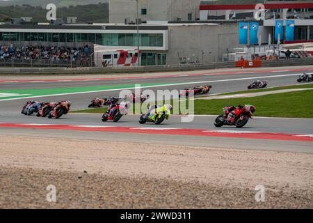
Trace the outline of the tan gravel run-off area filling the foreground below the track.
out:
M 313 208 L 312 161 L 310 153 L 0 135 L 0 208 Z

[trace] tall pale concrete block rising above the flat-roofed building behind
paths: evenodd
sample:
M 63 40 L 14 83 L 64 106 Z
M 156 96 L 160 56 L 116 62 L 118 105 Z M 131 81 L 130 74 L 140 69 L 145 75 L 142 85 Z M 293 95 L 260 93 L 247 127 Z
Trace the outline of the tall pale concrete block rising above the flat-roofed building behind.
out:
M 147 15 L 141 15 L 141 9 L 147 9 Z M 138 13 L 142 21 L 177 21 L 188 20 L 188 13 L 192 13 L 195 20 L 199 15 L 200 0 L 138 0 Z M 109 22 L 124 23 L 136 20 L 136 0 L 110 0 Z

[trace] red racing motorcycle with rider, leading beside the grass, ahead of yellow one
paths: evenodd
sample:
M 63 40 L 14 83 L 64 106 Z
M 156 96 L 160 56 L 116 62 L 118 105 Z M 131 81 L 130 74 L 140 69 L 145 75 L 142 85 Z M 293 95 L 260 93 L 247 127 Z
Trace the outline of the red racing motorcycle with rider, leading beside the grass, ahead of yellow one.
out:
M 252 118 L 252 113 L 255 112 L 255 107 L 252 105 L 224 107 L 223 112 L 224 114 L 215 119 L 214 125 L 216 127 L 222 127 L 223 125 L 235 125 L 236 128 L 242 128 L 248 123 L 249 118 Z M 234 120 L 232 122 L 227 121 L 227 116 L 231 112 L 234 115 Z

